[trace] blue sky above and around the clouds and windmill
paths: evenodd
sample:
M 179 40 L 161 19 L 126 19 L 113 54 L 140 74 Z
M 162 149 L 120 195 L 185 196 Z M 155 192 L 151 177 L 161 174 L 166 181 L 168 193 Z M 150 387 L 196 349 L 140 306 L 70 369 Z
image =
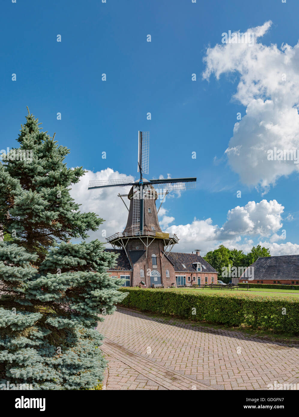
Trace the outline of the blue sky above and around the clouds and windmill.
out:
M 149 178 L 168 173 L 173 178 L 197 177 L 196 190 L 166 199 L 163 214 L 175 219 L 168 226 L 211 218 L 221 228 L 228 211 L 236 206 L 276 200 L 284 206 L 284 211 L 275 212 L 276 221 L 283 225 L 274 227 L 273 233 L 286 230 L 286 239 L 277 244 L 290 242 L 289 251 L 299 253 L 298 173 L 279 174 L 266 193 L 260 184 L 246 183 L 244 176 L 241 180 L 241 168 L 234 169 L 224 153 L 233 136 L 236 113 L 243 117 L 248 105 L 233 98 L 240 74 L 231 70 L 217 79 L 212 68 L 209 79 L 202 78 L 207 48 L 221 45 L 222 33 L 244 32 L 271 20 L 259 41 L 266 47 L 277 44 L 280 48 L 282 43 L 294 47 L 299 38 L 298 15 L 299 3 L 294 0 L 5 1 L 0 14 L 0 148 L 15 146 L 28 106 L 44 129 L 51 135 L 55 131 L 59 143 L 71 149 L 68 166 L 82 165 L 93 172 L 109 167 L 137 178 L 137 132 L 150 131 Z M 61 43 L 56 41 L 58 34 Z M 11 79 L 13 73 L 16 81 Z M 106 81 L 101 80 L 102 73 Z M 192 73 L 196 81 L 191 80 Z M 261 99 L 266 98 L 261 95 Z M 56 119 L 58 112 L 61 120 Z M 146 118 L 148 112 L 151 120 Z M 242 132 L 246 140 L 246 128 Z M 103 151 L 106 159 L 101 158 Z M 196 159 L 191 158 L 193 151 Z M 87 188 L 88 177 L 85 181 Z M 238 190 L 241 198 L 236 197 Z M 106 210 L 110 203 L 95 198 L 94 192 L 81 201 L 83 208 L 89 208 L 90 195 L 112 230 Z M 112 204 L 118 210 L 118 203 Z M 114 227 L 121 227 L 123 216 L 126 211 Z M 287 216 L 292 220 L 286 220 Z M 195 249 L 191 246 L 198 241 L 206 251 L 229 240 L 217 230 L 218 241 L 215 237 L 205 241 L 204 233 L 204 228 L 197 229 L 198 240 L 182 240 L 185 244 L 179 249 Z M 268 242 L 269 233 L 261 236 L 254 227 L 241 234 L 238 244 L 246 249 L 250 245 L 244 239 L 254 244 Z M 279 253 L 289 252 L 281 246 Z

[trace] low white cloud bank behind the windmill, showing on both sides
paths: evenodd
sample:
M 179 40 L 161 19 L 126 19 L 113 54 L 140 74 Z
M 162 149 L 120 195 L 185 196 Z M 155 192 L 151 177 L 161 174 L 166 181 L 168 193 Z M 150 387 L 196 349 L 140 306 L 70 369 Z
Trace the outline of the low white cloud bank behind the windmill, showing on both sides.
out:
M 98 238 L 106 241 L 105 237 L 123 231 L 126 226 L 128 211 L 117 194 L 128 193 L 130 187 L 88 190 L 89 181 L 103 179 L 133 181 L 133 177 L 115 172 L 111 168 L 96 173 L 88 171 L 78 184 L 72 186 L 70 193 L 75 201 L 81 204 L 80 211 L 94 212 L 106 220 L 98 231 L 90 232 L 90 239 Z M 129 205 L 126 197 L 124 200 Z M 261 200 L 259 203 L 249 201 L 243 207 L 236 206 L 229 210 L 227 220 L 222 227 L 213 224 L 212 219 L 196 218 L 190 224 L 170 225 L 175 219 L 168 215 L 168 211 L 163 205 L 161 206 L 159 222 L 164 231 L 175 233 L 180 239 L 174 251 L 191 252 L 194 249 L 202 249 L 205 254 L 222 243 L 230 249 L 236 247 L 247 252 L 254 245 L 253 238 L 257 238 L 260 239 L 260 244 L 269 247 L 272 255 L 299 254 L 299 245 L 290 242 L 275 243 L 280 239 L 285 239 L 285 236 L 279 234 L 283 226 L 281 215 L 284 206 L 276 200 Z

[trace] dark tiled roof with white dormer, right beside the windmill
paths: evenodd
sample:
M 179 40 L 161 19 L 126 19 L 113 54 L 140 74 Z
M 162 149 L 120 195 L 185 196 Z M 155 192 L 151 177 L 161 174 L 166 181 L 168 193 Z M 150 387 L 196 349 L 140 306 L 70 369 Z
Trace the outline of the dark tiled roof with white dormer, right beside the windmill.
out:
M 200 255 L 196 254 L 184 254 L 181 252 L 166 252 L 167 258 L 173 263 L 174 270 L 177 272 L 196 272 L 196 266 L 193 262 L 200 262 L 202 265 L 201 272 L 213 272 L 217 274 L 216 269 L 213 268 L 207 261 Z M 183 264 L 186 268 L 183 267 Z

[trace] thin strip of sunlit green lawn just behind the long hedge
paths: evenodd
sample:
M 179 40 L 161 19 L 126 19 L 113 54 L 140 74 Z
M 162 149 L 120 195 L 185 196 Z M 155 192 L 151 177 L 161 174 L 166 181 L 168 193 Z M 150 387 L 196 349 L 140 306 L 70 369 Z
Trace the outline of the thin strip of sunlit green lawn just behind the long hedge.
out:
M 288 289 L 272 289 L 272 288 L 251 288 L 247 291 L 247 289 L 208 289 L 208 288 L 176 288 L 176 291 L 201 291 L 204 294 L 213 294 L 216 291 L 220 292 L 221 294 L 246 294 L 249 297 L 255 295 L 262 295 L 268 297 L 299 297 L 299 290 L 288 290 Z

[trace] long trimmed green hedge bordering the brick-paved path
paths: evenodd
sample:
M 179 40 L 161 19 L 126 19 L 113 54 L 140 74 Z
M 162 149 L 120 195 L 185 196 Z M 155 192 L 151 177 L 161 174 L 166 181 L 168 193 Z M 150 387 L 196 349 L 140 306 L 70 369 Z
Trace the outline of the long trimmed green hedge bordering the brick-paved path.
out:
M 121 288 L 128 292 L 121 306 L 175 315 L 198 322 L 243 326 L 252 329 L 299 334 L 299 299 L 247 296 L 246 294 L 207 294 L 176 289 Z M 196 314 L 192 314 L 193 309 Z M 282 314 L 282 309 L 286 314 Z

